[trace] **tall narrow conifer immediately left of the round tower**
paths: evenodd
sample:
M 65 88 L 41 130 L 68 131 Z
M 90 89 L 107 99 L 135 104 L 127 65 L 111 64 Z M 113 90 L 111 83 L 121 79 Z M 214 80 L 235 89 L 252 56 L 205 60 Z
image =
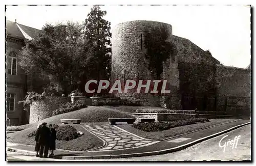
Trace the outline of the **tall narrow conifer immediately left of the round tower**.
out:
M 84 40 L 91 54 L 88 61 L 93 67 L 94 79 L 109 79 L 111 71 L 111 32 L 110 22 L 103 19 L 106 11 L 93 6 L 84 22 Z

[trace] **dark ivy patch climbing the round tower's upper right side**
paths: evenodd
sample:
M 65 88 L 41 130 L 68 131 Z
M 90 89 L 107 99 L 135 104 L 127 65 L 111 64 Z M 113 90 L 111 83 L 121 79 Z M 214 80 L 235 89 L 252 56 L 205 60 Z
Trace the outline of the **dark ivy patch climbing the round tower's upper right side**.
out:
M 167 40 L 168 37 L 168 31 L 164 26 L 144 32 L 145 58 L 149 61 L 148 69 L 157 79 L 163 72 L 163 62 L 171 58 L 174 63 L 178 53 L 175 44 Z

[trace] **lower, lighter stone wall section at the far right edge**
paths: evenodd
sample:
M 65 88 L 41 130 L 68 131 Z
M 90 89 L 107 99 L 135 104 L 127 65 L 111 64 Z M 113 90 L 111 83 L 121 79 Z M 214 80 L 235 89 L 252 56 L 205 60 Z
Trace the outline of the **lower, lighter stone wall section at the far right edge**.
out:
M 231 115 L 250 115 L 250 70 L 217 65 L 216 86 L 218 110 Z

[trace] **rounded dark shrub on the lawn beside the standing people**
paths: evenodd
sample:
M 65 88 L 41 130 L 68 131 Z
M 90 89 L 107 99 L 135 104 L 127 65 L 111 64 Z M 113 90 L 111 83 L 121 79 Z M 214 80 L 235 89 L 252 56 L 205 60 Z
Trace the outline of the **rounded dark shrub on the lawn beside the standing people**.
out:
M 77 130 L 71 125 L 59 126 L 56 129 L 57 140 L 70 141 L 80 136 Z

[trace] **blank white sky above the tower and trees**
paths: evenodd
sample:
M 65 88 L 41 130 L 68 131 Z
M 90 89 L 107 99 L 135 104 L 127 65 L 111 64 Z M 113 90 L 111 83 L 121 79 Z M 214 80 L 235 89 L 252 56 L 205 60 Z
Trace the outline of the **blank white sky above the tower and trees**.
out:
M 7 6 L 6 19 L 41 29 L 48 23 L 82 22 L 92 6 Z M 100 7 L 116 24 L 152 20 L 171 24 L 173 35 L 189 39 L 223 65 L 246 68 L 251 61 L 249 6 L 117 6 Z

